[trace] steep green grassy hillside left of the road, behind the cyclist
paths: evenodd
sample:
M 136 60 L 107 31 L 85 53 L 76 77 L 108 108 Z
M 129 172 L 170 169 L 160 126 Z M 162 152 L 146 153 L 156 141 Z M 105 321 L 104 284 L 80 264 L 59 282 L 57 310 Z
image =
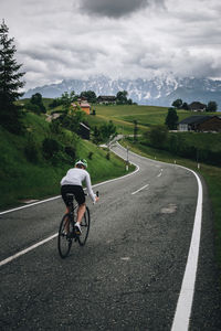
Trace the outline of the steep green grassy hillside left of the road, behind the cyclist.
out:
M 53 137 L 44 116 L 28 113 L 25 136 L 15 136 L 0 127 L 0 209 L 22 203 L 24 199 L 42 199 L 60 194 L 60 181 L 74 160 L 61 151 L 53 160 L 42 156 L 42 141 Z M 92 182 L 125 174 L 125 163 L 114 154 L 107 160 L 107 152 L 90 141 L 73 137 L 69 131 L 60 137 L 60 143 L 74 145 L 76 157 L 88 160 Z M 27 147 L 35 150 L 34 159 L 27 158 Z M 88 156 L 92 156 L 92 159 Z M 36 156 L 35 156 L 36 154 Z M 32 156 L 32 151 L 31 151 Z

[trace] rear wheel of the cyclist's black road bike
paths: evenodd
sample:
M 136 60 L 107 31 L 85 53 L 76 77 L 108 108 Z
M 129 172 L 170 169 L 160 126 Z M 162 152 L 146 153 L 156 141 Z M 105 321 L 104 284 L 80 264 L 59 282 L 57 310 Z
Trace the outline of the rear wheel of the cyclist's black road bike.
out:
M 70 249 L 72 247 L 73 238 L 67 236 L 67 234 L 66 234 L 66 225 L 67 224 L 69 224 L 69 227 L 72 226 L 70 214 L 65 214 L 63 216 L 62 222 L 60 224 L 60 228 L 59 228 L 57 248 L 59 248 L 59 254 L 62 258 L 65 258 L 70 254 Z

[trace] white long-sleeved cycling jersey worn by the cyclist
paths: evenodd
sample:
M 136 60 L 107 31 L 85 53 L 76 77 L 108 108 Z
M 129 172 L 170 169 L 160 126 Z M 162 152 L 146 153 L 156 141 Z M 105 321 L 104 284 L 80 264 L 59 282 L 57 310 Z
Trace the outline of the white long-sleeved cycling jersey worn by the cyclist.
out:
M 66 175 L 63 177 L 61 180 L 61 185 L 80 185 L 82 186 L 82 183 L 86 183 L 86 188 L 88 191 L 88 194 L 93 202 L 95 202 L 95 194 L 92 190 L 92 183 L 91 183 L 91 177 L 88 172 L 84 169 L 80 168 L 72 168 L 67 171 Z

